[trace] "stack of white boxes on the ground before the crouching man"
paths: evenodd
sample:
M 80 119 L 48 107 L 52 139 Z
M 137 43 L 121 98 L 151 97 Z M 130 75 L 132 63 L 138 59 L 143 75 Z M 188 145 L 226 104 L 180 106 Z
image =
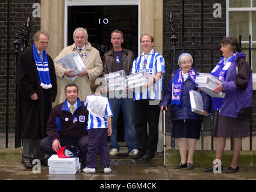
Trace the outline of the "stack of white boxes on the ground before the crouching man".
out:
M 48 166 L 49 174 L 76 174 L 80 170 L 78 157 L 58 158 L 58 155 L 52 155 Z

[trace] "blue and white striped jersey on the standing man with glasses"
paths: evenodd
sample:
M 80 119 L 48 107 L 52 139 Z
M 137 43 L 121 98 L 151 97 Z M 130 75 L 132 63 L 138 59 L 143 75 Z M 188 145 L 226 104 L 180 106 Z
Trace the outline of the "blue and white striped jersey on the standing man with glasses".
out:
M 163 91 L 163 74 L 165 73 L 163 56 L 155 52 L 154 49 L 152 49 L 148 55 L 145 55 L 143 52 L 142 55 L 133 61 L 131 74 L 138 73 L 140 71 L 147 71 L 152 76 L 161 72 L 162 76 L 154 83 L 154 85 L 147 88 L 145 91 L 141 93 L 134 92 L 134 100 L 161 100 L 161 94 Z

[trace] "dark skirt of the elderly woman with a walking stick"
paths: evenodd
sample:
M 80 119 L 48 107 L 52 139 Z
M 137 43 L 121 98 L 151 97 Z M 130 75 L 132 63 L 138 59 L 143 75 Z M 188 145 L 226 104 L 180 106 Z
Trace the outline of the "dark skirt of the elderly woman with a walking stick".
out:
M 199 139 L 201 130 L 201 120 L 181 119 L 172 121 L 172 137 Z

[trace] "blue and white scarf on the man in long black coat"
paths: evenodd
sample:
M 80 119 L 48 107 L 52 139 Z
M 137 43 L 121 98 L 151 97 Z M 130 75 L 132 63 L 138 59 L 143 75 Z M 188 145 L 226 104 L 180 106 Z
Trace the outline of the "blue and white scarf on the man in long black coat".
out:
M 39 53 L 37 52 L 35 44 L 33 44 L 33 54 L 34 54 L 34 59 L 36 61 L 39 79 L 41 81 L 40 86 L 42 86 L 43 89 L 52 88 L 46 51 L 43 50 L 43 63 L 41 61 Z

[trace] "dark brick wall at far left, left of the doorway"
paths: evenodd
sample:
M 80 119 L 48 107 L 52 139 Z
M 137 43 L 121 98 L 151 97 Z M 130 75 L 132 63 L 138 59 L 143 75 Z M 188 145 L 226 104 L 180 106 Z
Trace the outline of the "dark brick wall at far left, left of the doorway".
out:
M 23 27 L 23 22 L 28 16 L 31 16 L 32 26 L 31 35 L 40 29 L 40 18 L 34 18 L 32 7 L 34 3 L 40 3 L 40 0 L 9 0 L 9 26 L 10 26 L 10 90 L 9 90 L 9 130 L 14 130 L 15 119 L 15 71 L 16 57 L 14 55 L 13 41 L 16 33 Z M 7 75 L 7 1 L 0 2 L 0 130 L 5 130 L 5 98 L 6 98 L 6 75 Z M 19 41 L 21 41 L 19 39 Z M 32 44 L 32 42 L 31 42 Z

